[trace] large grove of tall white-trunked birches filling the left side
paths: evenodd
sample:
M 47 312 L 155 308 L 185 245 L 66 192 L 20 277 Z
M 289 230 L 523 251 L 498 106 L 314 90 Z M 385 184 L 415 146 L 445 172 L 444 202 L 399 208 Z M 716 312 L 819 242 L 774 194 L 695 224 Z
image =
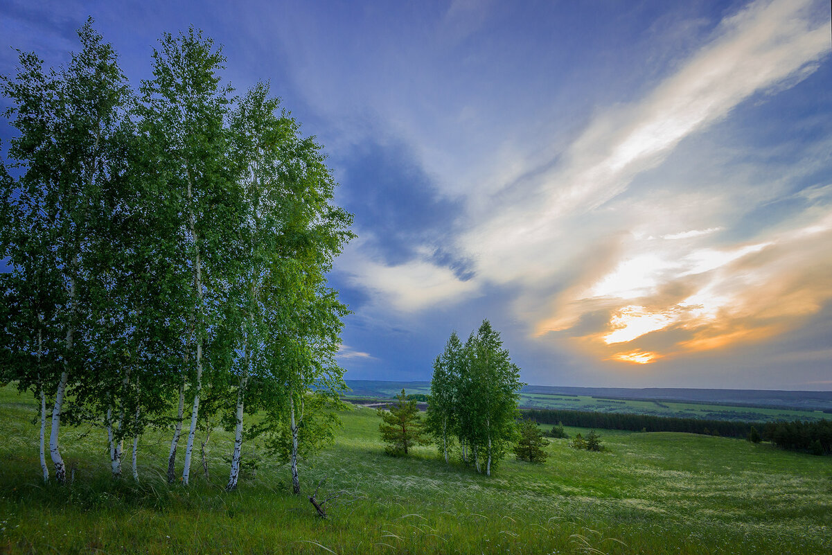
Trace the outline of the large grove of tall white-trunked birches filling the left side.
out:
M 222 83 L 225 58 L 193 28 L 166 33 L 152 78 L 131 88 L 87 21 L 81 50 L 46 68 L 21 52 L 2 77 L 18 134 L 0 167 L 0 372 L 40 401 L 41 465 L 66 480 L 61 424 L 106 428 L 121 475 L 125 440 L 171 429 L 168 478 L 198 427 L 265 434 L 291 462 L 331 434 L 348 313 L 326 282 L 354 235 L 314 138 L 269 87 Z M 245 414 L 264 410 L 256 426 Z M 47 420 L 49 423 L 47 424 Z

